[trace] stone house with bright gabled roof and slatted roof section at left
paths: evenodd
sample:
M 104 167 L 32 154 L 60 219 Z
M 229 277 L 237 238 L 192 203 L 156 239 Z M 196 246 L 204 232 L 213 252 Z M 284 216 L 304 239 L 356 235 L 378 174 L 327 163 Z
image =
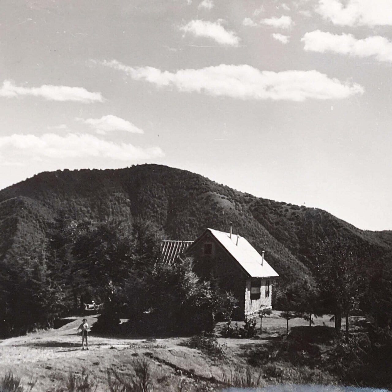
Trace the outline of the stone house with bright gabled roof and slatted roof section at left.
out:
M 196 274 L 234 294 L 238 299 L 235 319 L 256 315 L 260 309 L 272 306 L 272 285 L 279 275 L 265 260 L 264 251 L 259 254 L 245 238 L 232 234 L 232 226 L 228 233 L 205 229 L 193 242 L 167 241 L 164 247 L 166 263 L 192 256 Z

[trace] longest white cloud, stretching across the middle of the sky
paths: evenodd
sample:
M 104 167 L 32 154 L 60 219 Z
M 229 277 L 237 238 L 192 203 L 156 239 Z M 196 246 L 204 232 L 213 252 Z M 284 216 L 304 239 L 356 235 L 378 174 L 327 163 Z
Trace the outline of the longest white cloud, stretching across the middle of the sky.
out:
M 102 63 L 158 87 L 174 86 L 182 92 L 239 99 L 304 101 L 342 99 L 362 94 L 357 83 L 342 83 L 318 71 L 260 71 L 250 65 L 217 65 L 180 69 L 174 73 L 153 67 L 129 67 L 116 60 Z

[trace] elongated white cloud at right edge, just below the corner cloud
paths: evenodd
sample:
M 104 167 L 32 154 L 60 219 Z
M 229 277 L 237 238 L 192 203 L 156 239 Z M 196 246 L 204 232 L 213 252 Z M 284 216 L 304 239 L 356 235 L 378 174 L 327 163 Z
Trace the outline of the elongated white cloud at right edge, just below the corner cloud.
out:
M 320 30 L 306 33 L 301 39 L 305 51 L 332 52 L 356 57 L 374 56 L 379 61 L 392 62 L 392 42 L 381 36 L 357 40 L 352 34 L 332 34 Z

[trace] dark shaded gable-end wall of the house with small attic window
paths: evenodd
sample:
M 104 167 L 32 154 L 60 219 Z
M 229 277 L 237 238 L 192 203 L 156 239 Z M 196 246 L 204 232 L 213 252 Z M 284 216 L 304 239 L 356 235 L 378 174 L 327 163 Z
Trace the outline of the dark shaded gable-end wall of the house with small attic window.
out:
M 205 244 L 212 245 L 211 255 L 204 254 Z M 187 256 L 194 258 L 194 271 L 198 276 L 209 280 L 212 276 L 212 279 L 216 280 L 221 289 L 234 294 L 238 300 L 238 308 L 233 315 L 233 319 L 243 319 L 246 274 L 238 263 L 208 232 L 187 252 Z

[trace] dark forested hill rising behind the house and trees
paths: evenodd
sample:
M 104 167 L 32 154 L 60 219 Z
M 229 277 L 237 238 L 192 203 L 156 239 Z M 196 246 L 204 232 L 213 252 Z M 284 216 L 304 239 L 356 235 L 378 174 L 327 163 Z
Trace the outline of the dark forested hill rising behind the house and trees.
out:
M 284 280 L 311 276 L 331 245 L 350 246 L 376 265 L 389 260 L 390 232 L 359 230 L 320 209 L 256 198 L 203 176 L 160 165 L 43 172 L 0 191 L 0 262 L 45 252 L 59 221 L 149 220 L 169 239 L 206 227 L 246 237 Z

